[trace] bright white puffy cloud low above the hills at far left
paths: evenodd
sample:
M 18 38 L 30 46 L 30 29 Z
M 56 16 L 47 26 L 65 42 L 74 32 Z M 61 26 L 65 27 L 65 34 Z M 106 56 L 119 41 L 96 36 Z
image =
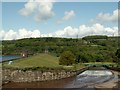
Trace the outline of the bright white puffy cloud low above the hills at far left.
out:
M 9 30 L 8 32 L 1 30 L 0 33 L 1 33 L 0 35 L 1 40 L 14 40 L 14 39 L 21 39 L 21 38 L 40 37 L 39 30 L 29 31 L 25 28 L 19 29 L 18 31 Z

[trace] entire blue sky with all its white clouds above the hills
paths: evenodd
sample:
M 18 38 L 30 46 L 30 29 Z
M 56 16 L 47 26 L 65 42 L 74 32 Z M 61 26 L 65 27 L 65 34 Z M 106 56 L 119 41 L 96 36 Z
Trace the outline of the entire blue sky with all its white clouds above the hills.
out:
M 3 40 L 118 35 L 118 2 L 30 0 L 2 2 L 0 6 L 2 6 L 0 39 Z

